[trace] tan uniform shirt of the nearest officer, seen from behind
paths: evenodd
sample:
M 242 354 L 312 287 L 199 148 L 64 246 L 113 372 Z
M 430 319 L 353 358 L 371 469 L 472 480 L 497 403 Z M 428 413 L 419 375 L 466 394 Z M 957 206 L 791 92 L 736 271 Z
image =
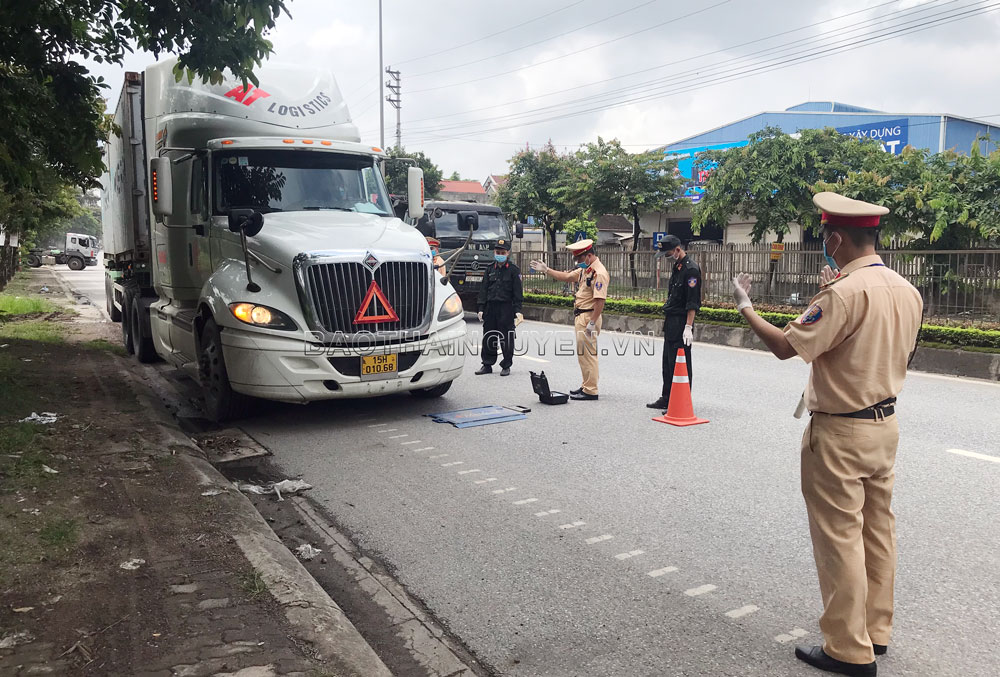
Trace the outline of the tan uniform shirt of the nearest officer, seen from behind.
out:
M 922 309 L 920 292 L 881 257 L 844 266 L 784 330 L 799 356 L 812 363 L 809 411 L 846 414 L 896 396 Z

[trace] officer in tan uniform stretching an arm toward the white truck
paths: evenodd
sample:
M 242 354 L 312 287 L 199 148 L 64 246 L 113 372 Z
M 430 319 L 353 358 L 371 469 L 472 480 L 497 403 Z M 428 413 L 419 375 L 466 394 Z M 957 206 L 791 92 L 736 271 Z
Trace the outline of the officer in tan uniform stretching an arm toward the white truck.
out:
M 566 245 L 576 261 L 576 268 L 570 271 L 553 270 L 542 261 L 532 261 L 531 269 L 545 273 L 560 282 L 575 282 L 576 299 L 573 303 L 574 327 L 576 329 L 576 356 L 580 361 L 583 384 L 571 390 L 574 400 L 597 399 L 597 335 L 601 333 L 601 314 L 608 298 L 608 283 L 611 281 L 607 268 L 594 252 L 593 240 L 580 240 Z

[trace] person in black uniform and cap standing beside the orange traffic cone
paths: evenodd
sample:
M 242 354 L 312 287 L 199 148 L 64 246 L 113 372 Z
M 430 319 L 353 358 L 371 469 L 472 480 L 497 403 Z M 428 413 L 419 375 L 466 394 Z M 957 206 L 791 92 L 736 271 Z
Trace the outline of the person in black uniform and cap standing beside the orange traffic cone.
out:
M 663 391 L 659 399 L 646 406 L 666 410 L 678 349 L 684 349 L 689 382 L 694 373 L 691 369 L 691 343 L 694 341 L 694 316 L 701 308 L 701 268 L 687 255 L 676 235 L 667 235 L 660 240 L 658 255 L 668 257 L 673 272 L 667 302 L 663 304 Z

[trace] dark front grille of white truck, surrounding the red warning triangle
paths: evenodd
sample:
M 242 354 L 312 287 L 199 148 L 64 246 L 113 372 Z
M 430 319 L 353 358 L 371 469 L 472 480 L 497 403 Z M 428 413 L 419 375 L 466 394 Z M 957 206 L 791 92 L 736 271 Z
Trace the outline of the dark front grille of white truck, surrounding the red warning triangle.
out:
M 425 263 L 387 261 L 372 273 L 361 263 L 314 263 L 306 268 L 306 296 L 313 317 L 329 333 L 400 332 L 419 329 L 430 312 L 430 280 Z M 360 322 L 355 318 L 372 280 L 385 295 L 396 321 Z M 365 317 L 388 315 L 376 294 Z

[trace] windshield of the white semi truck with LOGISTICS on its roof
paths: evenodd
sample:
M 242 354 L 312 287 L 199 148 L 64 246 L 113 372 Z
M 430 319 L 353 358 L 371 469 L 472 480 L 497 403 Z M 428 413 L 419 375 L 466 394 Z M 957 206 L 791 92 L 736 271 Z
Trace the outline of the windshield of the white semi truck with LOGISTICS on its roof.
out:
M 215 212 L 335 209 L 392 216 L 388 193 L 370 157 L 305 150 L 237 150 L 214 154 Z

